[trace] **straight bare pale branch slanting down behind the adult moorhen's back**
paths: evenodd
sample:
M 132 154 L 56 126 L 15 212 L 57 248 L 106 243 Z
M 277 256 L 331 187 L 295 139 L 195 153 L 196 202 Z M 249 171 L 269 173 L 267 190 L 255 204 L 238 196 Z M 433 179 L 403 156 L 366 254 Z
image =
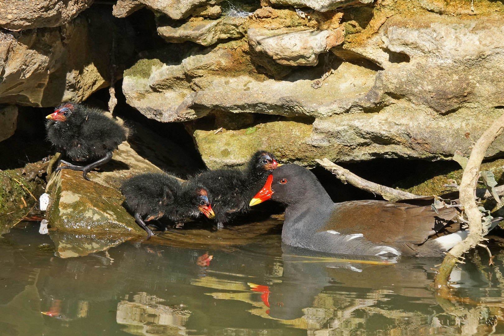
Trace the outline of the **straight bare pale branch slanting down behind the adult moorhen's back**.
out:
M 397 190 L 391 187 L 387 187 L 378 183 L 374 183 L 368 180 L 365 180 L 354 173 L 350 172 L 348 169 L 345 169 L 341 166 L 338 166 L 337 164 L 331 162 L 329 159 L 324 158 L 324 160 L 315 160 L 318 163 L 321 164 L 322 167 L 326 168 L 330 172 L 332 172 L 334 175 L 336 175 L 337 178 L 339 178 L 343 183 L 350 183 L 353 186 L 356 186 L 357 188 L 366 190 L 368 192 L 372 192 L 374 194 L 379 194 L 383 198 L 387 200 L 392 200 L 396 201 L 399 199 L 410 199 L 410 198 L 420 198 L 420 197 L 426 197 L 426 196 L 421 196 L 421 195 L 416 195 L 411 192 L 403 191 L 403 190 Z

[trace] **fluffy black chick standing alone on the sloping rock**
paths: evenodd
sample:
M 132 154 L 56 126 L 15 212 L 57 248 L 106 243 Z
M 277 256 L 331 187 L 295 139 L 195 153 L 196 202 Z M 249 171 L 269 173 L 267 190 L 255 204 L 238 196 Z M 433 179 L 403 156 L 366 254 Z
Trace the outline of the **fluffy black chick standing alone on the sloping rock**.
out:
M 47 138 L 58 152 L 65 153 L 73 161 L 89 162 L 78 166 L 61 160 L 66 166 L 61 169 L 82 170 L 86 176 L 91 169 L 112 158 L 112 151 L 126 140 L 128 128 L 119 125 L 97 108 L 67 102 L 61 104 L 54 113 L 46 116 Z

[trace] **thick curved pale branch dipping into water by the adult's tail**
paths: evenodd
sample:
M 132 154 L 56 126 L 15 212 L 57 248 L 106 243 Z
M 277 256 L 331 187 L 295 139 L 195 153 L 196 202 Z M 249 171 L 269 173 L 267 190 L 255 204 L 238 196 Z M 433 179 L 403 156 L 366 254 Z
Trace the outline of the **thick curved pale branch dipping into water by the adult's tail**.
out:
M 469 235 L 467 238 L 455 245 L 447 253 L 443 264 L 439 268 L 439 273 L 435 277 L 435 286 L 439 294 L 449 294 L 448 278 L 452 273 L 453 266 L 457 259 L 471 247 L 476 246 L 483 238 L 483 226 L 481 213 L 474 199 L 474 190 L 478 182 L 479 169 L 486 150 L 490 144 L 504 131 L 504 114 L 502 114 L 493 124 L 488 127 L 479 140 L 474 144 L 471 156 L 464 169 L 462 180 L 459 186 L 460 204 L 464 207 L 465 214 L 469 220 Z

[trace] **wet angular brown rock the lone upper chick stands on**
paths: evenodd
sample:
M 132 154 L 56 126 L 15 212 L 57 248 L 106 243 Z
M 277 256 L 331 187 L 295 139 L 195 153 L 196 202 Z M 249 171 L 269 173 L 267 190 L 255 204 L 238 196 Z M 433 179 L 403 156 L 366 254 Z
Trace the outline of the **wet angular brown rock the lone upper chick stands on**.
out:
M 141 158 L 128 143 L 119 145 L 112 160 L 101 168 L 102 172 L 88 174 L 91 181 L 85 180 L 82 172 L 70 169 L 49 177 L 46 219 L 51 229 L 122 240 L 145 235 L 122 207 L 124 197 L 119 186 L 134 174 L 159 168 Z

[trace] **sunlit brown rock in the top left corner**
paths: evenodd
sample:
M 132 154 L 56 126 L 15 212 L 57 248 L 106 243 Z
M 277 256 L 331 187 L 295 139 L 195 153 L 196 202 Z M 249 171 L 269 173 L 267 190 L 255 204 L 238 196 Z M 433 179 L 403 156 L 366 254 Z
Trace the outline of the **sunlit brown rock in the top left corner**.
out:
M 0 27 L 9 30 L 57 27 L 68 23 L 94 0 L 3 0 Z

